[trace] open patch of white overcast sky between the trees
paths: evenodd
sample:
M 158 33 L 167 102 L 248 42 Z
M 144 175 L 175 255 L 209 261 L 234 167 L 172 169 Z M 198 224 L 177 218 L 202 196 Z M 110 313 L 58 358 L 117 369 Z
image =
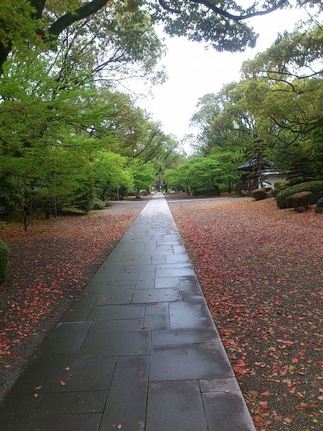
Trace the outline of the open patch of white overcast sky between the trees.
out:
M 189 128 L 189 119 L 195 111 L 197 99 L 206 93 L 216 93 L 231 81 L 239 81 L 242 62 L 265 50 L 276 39 L 278 32 L 291 31 L 294 24 L 308 15 L 303 9 L 277 10 L 269 15 L 253 18 L 250 22 L 259 33 L 256 47 L 244 53 L 219 53 L 205 50 L 203 43 L 188 41 L 184 37 L 165 37 L 167 54 L 162 63 L 168 80 L 154 86 L 152 95 L 137 100 L 137 104 L 152 114 L 154 121 L 161 121 L 163 130 L 179 140 L 196 130 Z M 140 83 L 131 85 L 136 92 L 143 91 Z M 185 148 L 185 151 L 188 151 Z

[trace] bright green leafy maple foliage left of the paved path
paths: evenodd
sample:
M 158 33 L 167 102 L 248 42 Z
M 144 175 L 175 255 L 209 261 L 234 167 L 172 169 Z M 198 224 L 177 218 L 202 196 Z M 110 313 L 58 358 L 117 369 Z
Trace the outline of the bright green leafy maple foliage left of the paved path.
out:
M 94 181 L 101 199 L 131 187 L 131 163 L 154 164 L 168 142 L 129 96 L 95 86 L 86 67 L 63 79 L 58 66 L 16 54 L 0 83 L 0 199 L 20 209 L 25 229 L 43 211 L 89 211 Z

